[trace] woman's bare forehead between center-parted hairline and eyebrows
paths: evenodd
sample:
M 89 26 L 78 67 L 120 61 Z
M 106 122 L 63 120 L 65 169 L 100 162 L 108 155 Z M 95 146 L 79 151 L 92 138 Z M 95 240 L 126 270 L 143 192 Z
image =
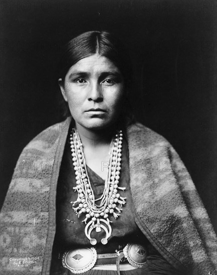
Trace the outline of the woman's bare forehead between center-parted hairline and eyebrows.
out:
M 78 72 L 85 71 L 90 73 L 101 73 L 106 71 L 116 71 L 120 73 L 118 67 L 107 57 L 94 54 L 85 58 L 82 58 L 77 63 L 72 65 L 68 70 L 67 75 Z

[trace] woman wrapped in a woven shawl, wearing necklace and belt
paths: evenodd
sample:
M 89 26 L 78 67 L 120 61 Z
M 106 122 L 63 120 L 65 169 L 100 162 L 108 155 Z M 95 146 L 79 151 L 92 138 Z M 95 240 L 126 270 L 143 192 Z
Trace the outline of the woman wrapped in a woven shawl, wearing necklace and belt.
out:
M 110 33 L 67 44 L 69 117 L 19 158 L 2 210 L 4 274 L 214 274 L 207 213 L 169 142 L 134 121 L 131 78 Z

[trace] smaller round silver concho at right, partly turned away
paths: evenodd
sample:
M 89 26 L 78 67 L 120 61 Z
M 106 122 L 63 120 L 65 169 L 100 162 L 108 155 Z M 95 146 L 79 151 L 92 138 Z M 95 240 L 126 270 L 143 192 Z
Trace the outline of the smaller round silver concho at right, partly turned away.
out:
M 137 268 L 142 268 L 146 262 L 147 251 L 140 244 L 128 243 L 124 249 L 123 253 L 125 258 L 129 263 Z

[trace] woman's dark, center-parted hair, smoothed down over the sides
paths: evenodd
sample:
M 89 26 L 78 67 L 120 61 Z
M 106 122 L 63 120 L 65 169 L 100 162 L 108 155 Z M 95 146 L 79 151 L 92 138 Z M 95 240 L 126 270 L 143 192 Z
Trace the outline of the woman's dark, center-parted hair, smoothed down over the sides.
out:
M 127 98 L 128 92 L 132 87 L 132 64 L 129 54 L 124 45 L 113 34 L 108 31 L 87 31 L 75 38 L 71 39 L 63 48 L 63 54 L 59 62 L 59 78 L 62 78 L 62 84 L 66 73 L 72 65 L 81 60 L 98 53 L 110 59 L 121 71 L 124 78 L 124 89 L 126 91 L 125 106 L 123 108 L 123 116 L 133 118 L 129 100 Z M 65 102 L 64 118 L 70 115 L 68 103 Z

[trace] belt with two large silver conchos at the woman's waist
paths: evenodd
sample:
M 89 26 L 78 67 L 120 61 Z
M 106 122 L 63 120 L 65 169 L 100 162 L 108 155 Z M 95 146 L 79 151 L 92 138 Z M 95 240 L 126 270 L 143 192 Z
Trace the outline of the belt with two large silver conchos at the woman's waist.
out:
M 144 266 L 147 251 L 142 245 L 133 243 L 128 243 L 123 250 L 116 250 L 116 254 L 97 254 L 94 247 L 71 249 L 63 254 L 62 264 L 72 273 L 83 273 L 93 267 L 97 269 L 97 265 L 95 266 L 97 259 L 118 258 L 120 251 L 123 252 L 123 258 L 121 261 L 128 260 L 128 262 L 135 268 L 142 268 Z

